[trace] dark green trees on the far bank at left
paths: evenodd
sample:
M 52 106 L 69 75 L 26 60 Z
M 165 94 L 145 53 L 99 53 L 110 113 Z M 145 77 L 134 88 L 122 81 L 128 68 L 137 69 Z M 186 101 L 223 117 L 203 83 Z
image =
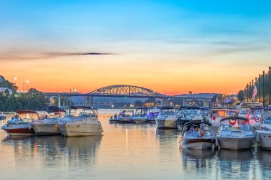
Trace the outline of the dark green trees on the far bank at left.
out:
M 41 107 L 49 104 L 42 92 L 31 88 L 28 92 L 16 93 L 17 87 L 14 83 L 4 80 L 0 83 L 0 88 L 9 88 L 8 90 L 0 92 L 0 111 L 16 111 L 16 110 L 40 110 Z

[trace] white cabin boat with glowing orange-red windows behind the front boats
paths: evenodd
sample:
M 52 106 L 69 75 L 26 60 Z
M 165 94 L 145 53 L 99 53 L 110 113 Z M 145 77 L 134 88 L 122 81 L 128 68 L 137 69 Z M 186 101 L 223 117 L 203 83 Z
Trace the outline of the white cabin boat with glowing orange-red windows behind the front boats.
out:
M 211 109 L 210 117 L 208 122 L 212 124 L 213 132 L 218 132 L 218 127 L 220 125 L 220 120 L 224 117 L 237 117 L 239 111 L 231 109 Z

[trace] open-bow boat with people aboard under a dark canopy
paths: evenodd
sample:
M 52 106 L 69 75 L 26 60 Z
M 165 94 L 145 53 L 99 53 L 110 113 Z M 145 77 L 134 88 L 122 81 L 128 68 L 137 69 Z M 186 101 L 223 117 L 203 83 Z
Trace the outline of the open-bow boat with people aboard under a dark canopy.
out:
M 183 125 L 180 147 L 187 149 L 210 149 L 215 144 L 215 136 L 210 122 L 190 121 Z

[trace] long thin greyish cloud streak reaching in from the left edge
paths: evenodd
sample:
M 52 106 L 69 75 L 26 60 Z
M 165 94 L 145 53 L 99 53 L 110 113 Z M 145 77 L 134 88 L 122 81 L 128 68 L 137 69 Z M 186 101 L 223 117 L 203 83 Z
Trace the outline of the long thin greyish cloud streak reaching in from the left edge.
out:
M 39 52 L 39 53 L 26 53 L 9 52 L 0 53 L 0 60 L 35 60 L 45 58 L 58 58 L 62 56 L 80 56 L 80 55 L 114 55 L 114 53 L 98 53 L 98 52 Z

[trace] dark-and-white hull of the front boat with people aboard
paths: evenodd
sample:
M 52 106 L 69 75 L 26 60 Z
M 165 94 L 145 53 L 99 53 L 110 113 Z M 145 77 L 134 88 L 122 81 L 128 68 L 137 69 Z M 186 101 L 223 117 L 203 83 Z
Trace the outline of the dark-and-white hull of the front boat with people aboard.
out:
M 180 146 L 187 149 L 210 149 L 215 143 L 215 138 L 181 139 Z

